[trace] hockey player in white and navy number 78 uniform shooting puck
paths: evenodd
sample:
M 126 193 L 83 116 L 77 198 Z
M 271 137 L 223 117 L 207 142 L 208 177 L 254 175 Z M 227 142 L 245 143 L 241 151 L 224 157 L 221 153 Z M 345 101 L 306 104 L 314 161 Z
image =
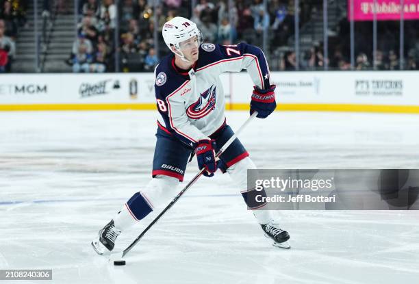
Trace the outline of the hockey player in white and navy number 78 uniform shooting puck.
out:
M 220 45 L 203 43 L 195 23 L 175 17 L 164 24 L 164 42 L 172 51 L 155 68 L 155 97 L 160 114 L 157 120 L 151 181 L 123 205 L 116 216 L 99 231 L 92 242 L 102 255 L 114 248 L 118 235 L 146 217 L 151 211 L 167 205 L 178 192 L 186 164 L 192 153 L 206 177 L 214 176 L 218 168 L 236 182 L 244 201 L 266 237 L 275 246 L 290 248 L 290 235 L 283 231 L 270 211 L 256 210 L 254 196 L 247 190 L 247 169 L 255 169 L 249 153 L 236 139 L 216 161 L 215 153 L 233 135 L 225 119 L 225 98 L 219 75 L 246 69 L 255 84 L 251 95 L 251 114 L 266 118 L 275 107 L 275 85 L 270 85 L 268 62 L 261 49 L 250 44 Z M 262 191 L 262 194 L 266 194 Z

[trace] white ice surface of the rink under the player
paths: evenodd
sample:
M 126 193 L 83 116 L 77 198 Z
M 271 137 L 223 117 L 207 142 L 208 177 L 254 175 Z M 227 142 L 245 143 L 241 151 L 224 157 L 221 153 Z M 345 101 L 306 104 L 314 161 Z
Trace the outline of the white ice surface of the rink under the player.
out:
M 237 129 L 248 115 L 227 122 Z M 415 115 L 277 112 L 240 139 L 259 168 L 419 168 L 418 125 Z M 276 212 L 291 234 L 282 250 L 220 173 L 199 180 L 127 266 L 112 266 L 90 241 L 150 179 L 155 129 L 154 112 L 0 113 L 0 269 L 52 269 L 45 283 L 419 283 L 419 211 Z M 195 173 L 193 161 L 185 181 Z

